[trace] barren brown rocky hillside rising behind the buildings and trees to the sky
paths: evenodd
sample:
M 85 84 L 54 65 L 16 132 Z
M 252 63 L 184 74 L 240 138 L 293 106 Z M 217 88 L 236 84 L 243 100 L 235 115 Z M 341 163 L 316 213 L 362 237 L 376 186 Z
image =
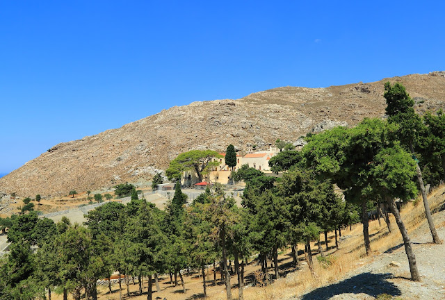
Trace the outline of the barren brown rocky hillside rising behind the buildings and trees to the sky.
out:
M 21 196 L 60 195 L 134 182 L 165 169 L 178 153 L 265 146 L 277 138 L 296 140 L 323 120 L 357 124 L 385 113 L 383 83 L 403 83 L 419 112 L 444 106 L 444 73 L 413 74 L 329 88 L 283 87 L 238 100 L 193 102 L 89 136 L 56 145 L 8 176 L 0 191 Z

